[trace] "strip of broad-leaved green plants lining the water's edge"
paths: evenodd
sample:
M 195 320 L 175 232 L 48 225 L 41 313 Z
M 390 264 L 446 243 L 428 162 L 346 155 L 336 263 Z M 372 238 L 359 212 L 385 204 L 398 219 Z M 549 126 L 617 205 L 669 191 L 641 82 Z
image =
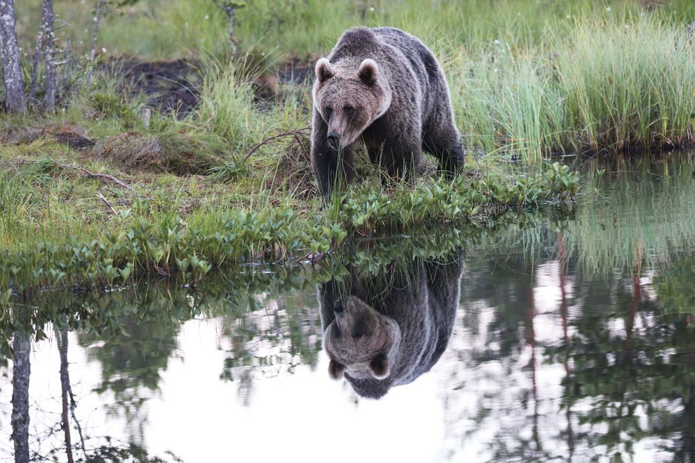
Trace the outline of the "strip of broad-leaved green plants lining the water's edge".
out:
M 88 242 L 39 242 L 0 258 L 0 294 L 31 293 L 58 286 L 107 288 L 128 283 L 137 273 L 180 273 L 197 283 L 213 267 L 240 262 L 316 260 L 345 246 L 350 235 L 417 230 L 433 223 L 470 221 L 509 208 L 536 207 L 543 201 L 569 201 L 578 174 L 557 162 L 539 174 L 459 176 L 421 180 L 418 187 L 383 190 L 363 184 L 316 217 L 289 205 L 259 211 L 202 211 L 185 221 L 174 212 L 139 217 L 124 229 Z M 147 201 L 136 204 L 148 210 Z M 331 220 L 329 217 L 338 217 Z

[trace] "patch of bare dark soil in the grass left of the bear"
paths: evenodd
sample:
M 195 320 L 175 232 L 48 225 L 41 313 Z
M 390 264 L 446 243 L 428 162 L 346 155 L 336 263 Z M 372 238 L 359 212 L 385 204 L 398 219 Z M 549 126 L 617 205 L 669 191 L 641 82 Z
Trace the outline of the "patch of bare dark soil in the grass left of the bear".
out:
M 109 71 L 121 76 L 122 90 L 147 96 L 147 106 L 160 112 L 174 111 L 179 119 L 198 105 L 202 84 L 199 70 L 184 60 L 140 62 L 113 60 Z

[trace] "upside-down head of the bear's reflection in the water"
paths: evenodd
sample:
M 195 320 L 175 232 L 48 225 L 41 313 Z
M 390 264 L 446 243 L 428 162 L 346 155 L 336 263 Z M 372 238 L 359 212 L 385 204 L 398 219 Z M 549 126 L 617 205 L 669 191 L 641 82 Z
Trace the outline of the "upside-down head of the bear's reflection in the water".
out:
M 398 323 L 357 296 L 338 301 L 334 312 L 323 336 L 331 378 L 340 379 L 343 373 L 354 380 L 389 378 L 400 345 Z

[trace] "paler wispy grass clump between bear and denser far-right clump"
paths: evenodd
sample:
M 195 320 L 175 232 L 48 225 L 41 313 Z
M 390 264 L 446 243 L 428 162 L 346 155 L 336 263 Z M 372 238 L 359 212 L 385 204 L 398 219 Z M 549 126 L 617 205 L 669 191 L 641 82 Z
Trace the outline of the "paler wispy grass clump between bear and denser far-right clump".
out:
M 473 61 L 457 60 L 463 69 L 450 73 L 450 80 L 468 146 L 517 153 L 535 164 L 548 147 L 562 146 L 566 117 L 553 85 L 553 62 L 532 53 L 522 56 L 495 43 Z

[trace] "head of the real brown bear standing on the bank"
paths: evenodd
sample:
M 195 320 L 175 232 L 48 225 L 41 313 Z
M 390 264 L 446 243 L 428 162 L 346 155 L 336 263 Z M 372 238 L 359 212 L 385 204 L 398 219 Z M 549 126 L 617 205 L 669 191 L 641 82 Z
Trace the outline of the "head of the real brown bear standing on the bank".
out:
M 372 59 L 316 62 L 313 105 L 328 126 L 328 143 L 342 149 L 354 143 L 391 106 L 391 88 Z

